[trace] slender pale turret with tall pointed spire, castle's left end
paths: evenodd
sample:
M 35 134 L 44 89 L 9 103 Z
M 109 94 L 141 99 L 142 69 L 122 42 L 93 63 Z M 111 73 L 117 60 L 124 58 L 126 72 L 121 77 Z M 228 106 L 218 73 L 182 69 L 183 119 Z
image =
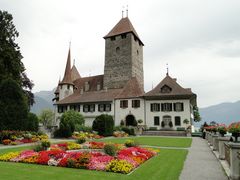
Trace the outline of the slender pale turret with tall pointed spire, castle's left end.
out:
M 74 84 L 71 74 L 71 52 L 68 51 L 67 63 L 63 80 L 59 83 L 59 101 L 73 94 Z

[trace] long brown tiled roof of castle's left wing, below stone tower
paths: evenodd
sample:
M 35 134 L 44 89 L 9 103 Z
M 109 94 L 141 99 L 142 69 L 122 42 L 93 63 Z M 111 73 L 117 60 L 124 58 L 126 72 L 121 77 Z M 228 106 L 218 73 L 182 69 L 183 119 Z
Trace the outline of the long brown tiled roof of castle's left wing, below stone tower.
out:
M 89 84 L 88 91 L 84 88 L 86 82 Z M 144 94 L 135 77 L 121 89 L 103 89 L 103 75 L 79 78 L 74 81 L 74 85 L 76 87 L 74 93 L 56 104 L 113 101 L 114 99 L 139 97 Z M 100 85 L 100 90 L 97 89 L 98 85 Z

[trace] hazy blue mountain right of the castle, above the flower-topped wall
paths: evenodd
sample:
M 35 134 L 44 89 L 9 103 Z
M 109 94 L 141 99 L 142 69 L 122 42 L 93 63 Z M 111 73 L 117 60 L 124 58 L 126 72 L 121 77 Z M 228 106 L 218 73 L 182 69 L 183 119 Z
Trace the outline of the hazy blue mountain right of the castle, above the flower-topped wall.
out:
M 240 121 L 240 101 L 234 103 L 221 103 L 214 106 L 199 109 L 202 121 L 196 123 L 196 126 L 205 121 L 209 124 L 211 121 L 229 125 L 232 122 Z

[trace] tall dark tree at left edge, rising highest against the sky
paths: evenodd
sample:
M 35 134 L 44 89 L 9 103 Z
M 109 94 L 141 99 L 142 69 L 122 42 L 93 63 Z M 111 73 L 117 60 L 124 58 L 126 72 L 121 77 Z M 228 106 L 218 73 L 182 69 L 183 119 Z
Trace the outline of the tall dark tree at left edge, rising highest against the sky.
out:
M 26 75 L 20 48 L 14 42 L 18 35 L 12 15 L 0 10 L 0 83 L 7 78 L 16 81 L 27 97 L 30 107 L 34 103 L 34 95 L 31 92 L 34 84 Z

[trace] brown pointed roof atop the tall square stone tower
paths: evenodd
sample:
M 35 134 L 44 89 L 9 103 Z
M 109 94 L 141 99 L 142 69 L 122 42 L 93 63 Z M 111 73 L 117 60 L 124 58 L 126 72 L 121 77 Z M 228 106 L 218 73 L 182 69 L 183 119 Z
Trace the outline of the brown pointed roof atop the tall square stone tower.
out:
M 109 38 L 112 36 L 116 36 L 116 35 L 120 35 L 120 34 L 124 34 L 124 33 L 128 33 L 128 32 L 133 33 L 134 36 L 136 36 L 138 38 L 138 40 L 141 42 L 141 44 L 144 45 L 128 17 L 122 18 L 114 26 L 114 28 L 103 38 L 106 39 L 106 38 Z

